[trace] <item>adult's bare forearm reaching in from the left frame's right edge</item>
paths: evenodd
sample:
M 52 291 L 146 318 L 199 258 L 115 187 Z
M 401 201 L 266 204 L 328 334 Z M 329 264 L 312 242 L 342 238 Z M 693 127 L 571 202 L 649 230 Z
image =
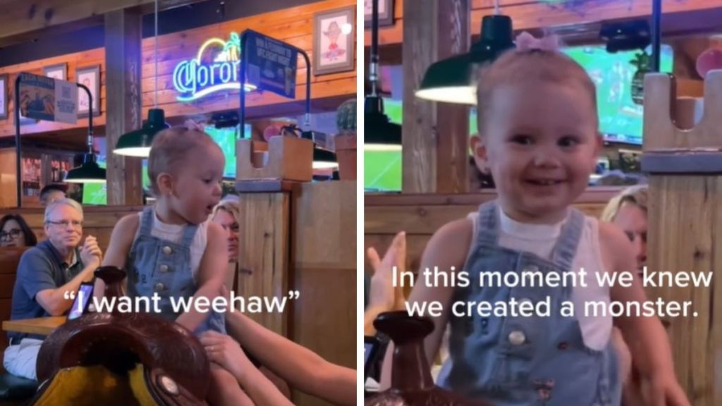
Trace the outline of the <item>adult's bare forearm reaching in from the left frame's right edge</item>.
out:
M 226 313 L 229 334 L 291 386 L 337 405 L 356 405 L 356 371 L 329 363 L 248 316 Z

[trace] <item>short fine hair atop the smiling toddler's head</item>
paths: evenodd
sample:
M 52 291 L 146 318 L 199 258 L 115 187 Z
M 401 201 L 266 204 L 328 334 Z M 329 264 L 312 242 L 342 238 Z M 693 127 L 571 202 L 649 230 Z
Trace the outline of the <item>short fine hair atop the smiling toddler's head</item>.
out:
M 559 51 L 542 49 L 512 50 L 503 53 L 492 64 L 479 71 L 477 83 L 477 126 L 479 134 L 485 134 L 482 126 L 489 122 L 490 106 L 494 90 L 502 85 L 531 81 L 551 82 L 556 85 L 577 85 L 585 90 L 594 107 L 594 128 L 599 127 L 596 105 L 596 86 L 584 68 Z

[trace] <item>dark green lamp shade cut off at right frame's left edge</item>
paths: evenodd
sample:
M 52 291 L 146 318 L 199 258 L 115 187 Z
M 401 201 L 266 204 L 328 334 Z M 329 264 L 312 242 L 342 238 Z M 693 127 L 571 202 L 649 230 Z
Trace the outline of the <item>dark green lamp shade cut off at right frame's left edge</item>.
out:
M 383 99 L 369 95 L 364 100 L 364 150 L 400 151 L 401 126 L 383 113 Z

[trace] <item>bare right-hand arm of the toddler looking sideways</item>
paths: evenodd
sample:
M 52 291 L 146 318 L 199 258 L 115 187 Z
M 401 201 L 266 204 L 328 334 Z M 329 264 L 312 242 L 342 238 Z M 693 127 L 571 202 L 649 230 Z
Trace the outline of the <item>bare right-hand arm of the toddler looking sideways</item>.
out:
M 220 295 L 221 286 L 225 281 L 225 272 L 228 267 L 228 244 L 223 228 L 217 223 L 208 223 L 208 243 L 206 251 L 201 259 L 198 269 L 198 290 L 194 298 L 206 297 L 210 303 Z M 208 313 L 196 311 L 191 306 L 191 311 L 181 314 L 175 322 L 186 327 L 191 332 L 209 316 Z

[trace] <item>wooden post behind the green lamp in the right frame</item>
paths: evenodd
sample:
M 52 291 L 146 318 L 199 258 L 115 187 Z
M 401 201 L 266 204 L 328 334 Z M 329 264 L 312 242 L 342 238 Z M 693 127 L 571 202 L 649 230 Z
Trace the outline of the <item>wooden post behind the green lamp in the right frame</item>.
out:
M 469 188 L 469 107 L 416 98 L 427 67 L 469 51 L 469 0 L 404 0 L 404 193 Z

